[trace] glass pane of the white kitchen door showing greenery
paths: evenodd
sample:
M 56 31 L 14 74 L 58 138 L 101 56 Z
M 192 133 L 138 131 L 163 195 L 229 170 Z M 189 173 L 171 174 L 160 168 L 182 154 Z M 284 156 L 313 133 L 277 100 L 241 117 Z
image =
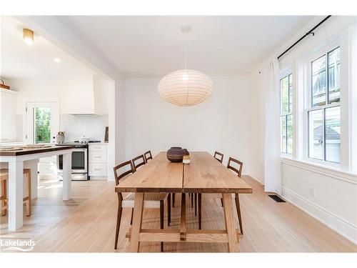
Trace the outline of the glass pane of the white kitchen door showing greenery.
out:
M 51 141 L 51 109 L 34 108 L 35 143 Z

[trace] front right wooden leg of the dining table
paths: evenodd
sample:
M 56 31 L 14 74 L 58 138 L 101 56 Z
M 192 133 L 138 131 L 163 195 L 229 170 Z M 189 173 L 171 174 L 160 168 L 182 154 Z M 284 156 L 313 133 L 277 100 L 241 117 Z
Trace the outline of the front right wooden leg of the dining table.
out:
M 238 239 L 236 227 L 234 226 L 234 209 L 231 194 L 223 194 L 223 212 L 228 234 L 228 251 L 238 252 Z

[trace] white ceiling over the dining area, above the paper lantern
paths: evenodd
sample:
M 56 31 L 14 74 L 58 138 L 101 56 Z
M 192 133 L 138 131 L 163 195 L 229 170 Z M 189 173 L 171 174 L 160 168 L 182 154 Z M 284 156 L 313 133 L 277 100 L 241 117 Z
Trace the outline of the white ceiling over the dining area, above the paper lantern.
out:
M 59 16 L 124 76 L 247 74 L 313 16 Z M 189 34 L 181 26 L 191 24 Z

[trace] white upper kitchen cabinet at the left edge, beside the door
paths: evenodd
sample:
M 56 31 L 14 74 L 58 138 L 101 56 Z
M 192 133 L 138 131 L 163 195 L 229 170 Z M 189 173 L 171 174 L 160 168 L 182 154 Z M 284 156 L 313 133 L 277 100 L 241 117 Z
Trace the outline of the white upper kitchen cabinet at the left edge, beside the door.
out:
M 0 142 L 16 142 L 16 98 L 18 92 L 1 89 Z

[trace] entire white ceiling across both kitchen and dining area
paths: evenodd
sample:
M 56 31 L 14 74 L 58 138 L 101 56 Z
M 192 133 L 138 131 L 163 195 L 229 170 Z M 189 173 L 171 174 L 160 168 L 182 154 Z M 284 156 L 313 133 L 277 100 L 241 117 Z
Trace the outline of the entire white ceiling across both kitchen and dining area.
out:
M 187 67 L 211 76 L 247 74 L 313 16 L 58 16 L 124 76 L 163 76 Z M 189 34 L 181 26 L 190 24 Z M 64 78 L 94 71 L 35 33 L 24 44 L 21 24 L 1 17 L 0 75 Z M 53 59 L 61 59 L 56 64 Z

